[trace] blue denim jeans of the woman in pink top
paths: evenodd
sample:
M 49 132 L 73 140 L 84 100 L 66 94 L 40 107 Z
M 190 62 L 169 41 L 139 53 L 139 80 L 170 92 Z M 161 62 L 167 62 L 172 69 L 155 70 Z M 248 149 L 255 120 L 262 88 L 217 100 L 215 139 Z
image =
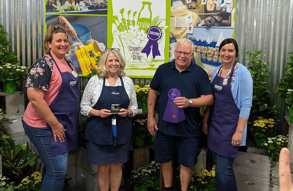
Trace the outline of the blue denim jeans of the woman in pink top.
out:
M 61 191 L 67 170 L 67 152 L 53 156 L 47 128 L 34 128 L 22 122 L 25 134 L 38 150 L 44 163 L 42 191 Z

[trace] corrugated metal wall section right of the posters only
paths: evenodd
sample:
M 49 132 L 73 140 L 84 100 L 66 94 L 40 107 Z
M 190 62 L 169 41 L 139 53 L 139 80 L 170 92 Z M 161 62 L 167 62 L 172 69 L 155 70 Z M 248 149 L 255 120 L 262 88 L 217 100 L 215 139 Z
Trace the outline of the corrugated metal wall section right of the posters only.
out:
M 269 62 L 271 74 L 269 87 L 276 88 L 282 78 L 288 52 L 293 51 L 293 1 L 236 0 L 235 40 L 239 46 L 239 61 L 248 60 L 247 51 L 263 51 L 261 60 Z M 278 94 L 273 94 L 276 104 L 281 105 Z M 283 106 L 280 110 L 279 133 L 282 130 Z

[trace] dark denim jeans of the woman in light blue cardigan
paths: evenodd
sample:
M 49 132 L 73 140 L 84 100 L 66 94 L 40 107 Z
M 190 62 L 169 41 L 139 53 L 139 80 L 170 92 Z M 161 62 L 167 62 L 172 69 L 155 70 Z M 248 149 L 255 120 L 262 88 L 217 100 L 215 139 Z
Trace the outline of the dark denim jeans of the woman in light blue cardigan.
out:
M 237 191 L 237 184 L 233 170 L 235 158 L 218 155 L 213 152 L 216 163 L 216 191 Z

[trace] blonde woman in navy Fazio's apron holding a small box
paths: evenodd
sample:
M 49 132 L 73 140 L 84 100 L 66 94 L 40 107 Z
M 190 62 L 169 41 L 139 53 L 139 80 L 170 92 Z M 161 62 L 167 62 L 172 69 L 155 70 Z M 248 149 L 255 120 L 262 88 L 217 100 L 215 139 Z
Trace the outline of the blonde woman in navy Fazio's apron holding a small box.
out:
M 106 49 L 80 103 L 81 114 L 88 116 L 87 161 L 97 164 L 101 191 L 108 191 L 109 185 L 118 191 L 122 164 L 129 160 L 130 116 L 138 107 L 134 84 L 123 71 L 125 64 L 119 49 Z

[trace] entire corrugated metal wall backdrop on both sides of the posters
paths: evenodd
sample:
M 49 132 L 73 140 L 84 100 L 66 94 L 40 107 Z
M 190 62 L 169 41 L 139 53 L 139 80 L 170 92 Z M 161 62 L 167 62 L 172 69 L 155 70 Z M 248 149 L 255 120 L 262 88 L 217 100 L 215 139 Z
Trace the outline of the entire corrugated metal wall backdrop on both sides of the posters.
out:
M 292 0 L 236 1 L 235 39 L 239 45 L 239 61 L 247 60 L 246 51 L 263 51 L 261 59 L 270 63 L 271 92 L 289 61 L 287 52 L 293 51 L 292 18 Z M 9 49 L 17 52 L 22 65 L 30 66 L 42 55 L 43 0 L 0 0 L 0 24 L 11 34 L 9 41 L 13 45 Z M 149 82 L 148 79 L 140 81 L 136 78 L 134 81 L 140 85 Z M 278 95 L 272 96 L 280 104 Z M 281 110 L 280 119 L 283 115 Z

